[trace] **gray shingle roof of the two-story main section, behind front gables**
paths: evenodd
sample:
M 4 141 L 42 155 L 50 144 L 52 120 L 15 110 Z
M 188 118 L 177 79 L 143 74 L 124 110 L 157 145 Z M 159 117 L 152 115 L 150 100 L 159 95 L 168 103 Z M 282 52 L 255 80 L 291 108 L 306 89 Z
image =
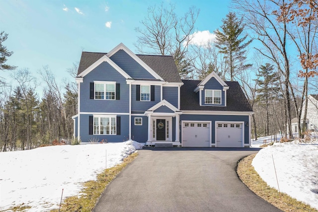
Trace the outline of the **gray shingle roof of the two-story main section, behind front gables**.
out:
M 82 52 L 78 74 L 87 69 L 107 53 Z M 167 82 L 182 82 L 172 56 L 137 55 L 152 70 Z

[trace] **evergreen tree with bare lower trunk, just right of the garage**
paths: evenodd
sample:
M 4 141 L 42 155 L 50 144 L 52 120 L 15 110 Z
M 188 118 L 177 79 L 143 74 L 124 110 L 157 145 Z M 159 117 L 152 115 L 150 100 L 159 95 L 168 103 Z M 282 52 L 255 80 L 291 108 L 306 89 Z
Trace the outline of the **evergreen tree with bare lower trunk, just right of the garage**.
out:
M 265 66 L 261 66 L 258 73 L 256 74 L 258 79 L 257 82 L 259 88 L 256 89 L 258 93 L 256 101 L 266 109 L 266 130 L 265 136 L 269 135 L 269 107 L 270 102 L 278 96 L 279 93 L 279 75 L 274 72 L 274 66 L 266 63 Z M 261 79 L 263 77 L 263 79 Z

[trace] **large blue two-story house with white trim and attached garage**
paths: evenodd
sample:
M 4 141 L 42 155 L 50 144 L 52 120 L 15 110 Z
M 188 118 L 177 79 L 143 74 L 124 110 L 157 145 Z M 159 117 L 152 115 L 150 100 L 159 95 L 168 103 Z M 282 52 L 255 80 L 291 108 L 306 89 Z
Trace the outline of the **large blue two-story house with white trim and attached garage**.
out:
M 248 147 L 253 113 L 238 82 L 215 72 L 181 80 L 171 56 L 135 55 L 119 44 L 82 52 L 74 136 L 146 145 Z

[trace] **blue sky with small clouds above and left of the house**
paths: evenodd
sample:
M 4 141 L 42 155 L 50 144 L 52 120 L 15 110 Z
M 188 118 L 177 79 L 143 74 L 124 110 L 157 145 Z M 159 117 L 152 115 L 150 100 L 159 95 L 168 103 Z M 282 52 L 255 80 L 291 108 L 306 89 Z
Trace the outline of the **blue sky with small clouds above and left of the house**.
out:
M 49 66 L 58 81 L 71 79 L 68 68 L 79 62 L 81 51 L 108 52 L 124 43 L 133 52 L 135 27 L 157 0 L 0 0 L 0 31 L 3 43 L 14 54 L 7 64 L 28 68 L 36 77 Z M 182 16 L 190 6 L 200 9 L 196 31 L 213 32 L 230 11 L 231 0 L 164 0 L 173 3 Z M 10 71 L 0 76 L 10 81 Z

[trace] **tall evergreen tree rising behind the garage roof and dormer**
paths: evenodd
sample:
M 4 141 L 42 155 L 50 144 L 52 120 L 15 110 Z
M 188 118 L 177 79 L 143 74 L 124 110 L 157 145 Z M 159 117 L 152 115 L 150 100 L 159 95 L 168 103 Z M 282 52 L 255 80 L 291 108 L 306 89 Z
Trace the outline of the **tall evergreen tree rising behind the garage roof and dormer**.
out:
M 234 12 L 227 14 L 222 22 L 221 30 L 214 31 L 216 35 L 215 44 L 220 49 L 219 52 L 225 54 L 230 69 L 230 80 L 233 81 L 236 73 L 252 66 L 251 64 L 244 64 L 246 60 L 246 50 L 244 49 L 252 40 L 243 43 L 247 35 L 239 38 L 244 25 L 242 25 L 242 19 L 239 20 Z

